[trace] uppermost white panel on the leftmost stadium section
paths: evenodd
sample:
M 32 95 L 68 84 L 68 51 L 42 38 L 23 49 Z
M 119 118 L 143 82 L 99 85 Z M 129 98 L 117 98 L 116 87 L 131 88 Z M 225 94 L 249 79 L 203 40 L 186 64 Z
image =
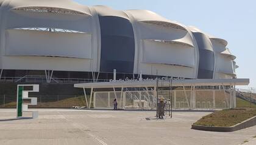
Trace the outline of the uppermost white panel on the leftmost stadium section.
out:
M 7 12 L 6 29 L 49 27 L 91 32 L 91 16 L 55 13 L 40 13 L 10 10 Z

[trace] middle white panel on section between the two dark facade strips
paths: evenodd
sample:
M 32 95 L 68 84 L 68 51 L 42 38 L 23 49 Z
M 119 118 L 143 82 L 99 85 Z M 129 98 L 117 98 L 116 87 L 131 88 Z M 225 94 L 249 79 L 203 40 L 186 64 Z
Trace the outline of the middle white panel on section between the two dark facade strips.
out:
M 194 49 L 180 44 L 143 40 L 143 63 L 194 67 Z

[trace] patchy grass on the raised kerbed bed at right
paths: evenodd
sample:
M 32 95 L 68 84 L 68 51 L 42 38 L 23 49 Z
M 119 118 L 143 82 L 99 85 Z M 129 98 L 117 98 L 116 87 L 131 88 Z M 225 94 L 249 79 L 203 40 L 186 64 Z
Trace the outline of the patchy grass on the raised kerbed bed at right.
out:
M 201 126 L 231 127 L 254 116 L 256 116 L 255 108 L 221 110 L 204 116 L 194 124 Z

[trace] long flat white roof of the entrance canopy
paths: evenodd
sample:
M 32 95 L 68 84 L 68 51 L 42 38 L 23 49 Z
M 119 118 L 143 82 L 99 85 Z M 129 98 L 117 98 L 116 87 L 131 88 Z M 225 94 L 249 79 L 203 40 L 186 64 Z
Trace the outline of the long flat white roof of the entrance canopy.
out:
M 169 82 L 163 81 L 163 86 L 168 87 Z M 218 85 L 249 85 L 249 79 L 177 79 L 172 80 L 172 87 L 179 86 L 218 86 Z M 75 88 L 129 88 L 129 87 L 155 87 L 157 86 L 156 80 L 143 80 L 143 81 L 119 81 L 116 82 L 99 82 L 99 83 L 78 83 Z

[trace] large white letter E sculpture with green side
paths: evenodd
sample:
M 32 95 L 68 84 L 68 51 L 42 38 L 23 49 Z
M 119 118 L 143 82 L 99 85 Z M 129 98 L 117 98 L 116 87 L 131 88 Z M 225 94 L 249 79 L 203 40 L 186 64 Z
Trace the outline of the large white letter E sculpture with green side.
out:
M 38 118 L 38 111 L 28 110 L 28 105 L 37 105 L 37 97 L 29 97 L 29 92 L 39 92 L 39 85 L 18 85 L 17 118 L 23 118 L 23 112 L 32 112 L 32 118 Z

